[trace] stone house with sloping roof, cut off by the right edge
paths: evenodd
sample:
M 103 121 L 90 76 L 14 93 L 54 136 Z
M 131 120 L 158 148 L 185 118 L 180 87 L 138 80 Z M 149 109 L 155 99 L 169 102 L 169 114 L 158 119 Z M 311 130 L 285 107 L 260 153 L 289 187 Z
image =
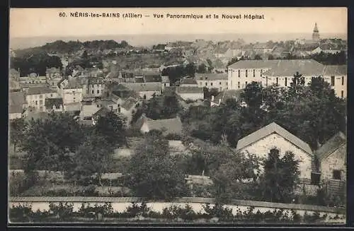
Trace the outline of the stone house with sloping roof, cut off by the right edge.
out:
M 342 132 L 334 135 L 315 152 L 322 181 L 346 181 L 347 138 Z

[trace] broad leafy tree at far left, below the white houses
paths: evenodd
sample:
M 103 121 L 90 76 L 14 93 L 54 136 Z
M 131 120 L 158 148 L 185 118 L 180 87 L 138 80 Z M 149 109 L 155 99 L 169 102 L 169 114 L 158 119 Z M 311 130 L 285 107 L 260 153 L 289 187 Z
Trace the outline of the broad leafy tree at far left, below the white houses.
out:
M 70 153 L 84 140 L 82 127 L 67 113 L 32 120 L 23 133 L 21 149 L 28 153 L 25 171 L 66 170 Z

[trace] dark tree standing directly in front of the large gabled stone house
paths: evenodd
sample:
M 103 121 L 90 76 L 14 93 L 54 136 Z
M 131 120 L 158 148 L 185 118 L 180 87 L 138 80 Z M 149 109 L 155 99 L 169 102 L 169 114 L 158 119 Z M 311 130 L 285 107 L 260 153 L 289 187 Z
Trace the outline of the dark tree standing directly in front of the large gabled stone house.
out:
M 286 152 L 280 158 L 277 148 L 268 153 L 264 162 L 264 174 L 261 177 L 263 197 L 271 202 L 290 203 L 299 181 L 299 162 L 294 153 Z

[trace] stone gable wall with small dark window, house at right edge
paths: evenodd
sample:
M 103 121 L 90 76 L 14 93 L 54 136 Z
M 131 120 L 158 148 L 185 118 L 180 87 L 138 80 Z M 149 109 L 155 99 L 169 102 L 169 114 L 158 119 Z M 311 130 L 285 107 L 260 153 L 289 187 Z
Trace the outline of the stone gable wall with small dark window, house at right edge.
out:
M 322 180 L 342 180 L 346 181 L 346 145 L 344 144 L 335 150 L 328 158 L 320 163 Z

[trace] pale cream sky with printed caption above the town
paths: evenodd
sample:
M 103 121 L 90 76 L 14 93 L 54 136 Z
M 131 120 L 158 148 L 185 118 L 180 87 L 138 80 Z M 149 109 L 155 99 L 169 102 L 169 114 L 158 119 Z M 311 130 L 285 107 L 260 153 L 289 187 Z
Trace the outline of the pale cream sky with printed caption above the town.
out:
M 66 17 L 60 17 L 64 12 Z M 120 18 L 75 18 L 70 13 L 120 13 Z M 142 18 L 122 18 L 122 13 Z M 164 18 L 154 18 L 154 13 Z M 166 14 L 202 15 L 202 19 L 166 18 Z M 205 18 L 211 14 L 212 18 Z M 214 14 L 219 18 L 214 18 Z M 222 19 L 222 14 L 241 19 Z M 246 20 L 244 14 L 264 19 Z M 149 17 L 146 17 L 149 16 Z M 10 40 L 25 37 L 84 37 L 101 35 L 181 35 L 227 33 L 346 34 L 347 8 L 11 8 Z

